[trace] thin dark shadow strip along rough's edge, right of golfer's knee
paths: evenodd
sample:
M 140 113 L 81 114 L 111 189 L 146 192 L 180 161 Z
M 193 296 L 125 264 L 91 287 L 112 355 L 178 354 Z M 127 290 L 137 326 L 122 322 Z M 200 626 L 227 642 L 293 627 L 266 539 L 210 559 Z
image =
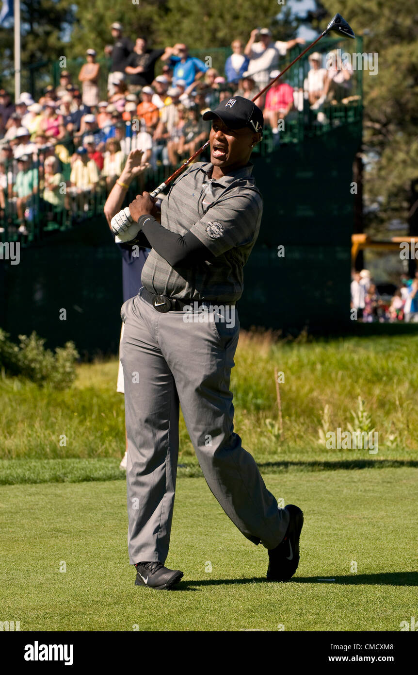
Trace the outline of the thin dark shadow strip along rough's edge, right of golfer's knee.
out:
M 324 471 L 336 469 L 355 469 L 355 468 L 400 468 L 409 466 L 418 467 L 418 460 L 314 460 L 312 462 L 294 462 L 293 460 L 282 460 L 282 462 L 257 462 L 258 468 L 265 473 L 276 473 L 280 470 L 289 468 L 302 468 L 305 471 Z

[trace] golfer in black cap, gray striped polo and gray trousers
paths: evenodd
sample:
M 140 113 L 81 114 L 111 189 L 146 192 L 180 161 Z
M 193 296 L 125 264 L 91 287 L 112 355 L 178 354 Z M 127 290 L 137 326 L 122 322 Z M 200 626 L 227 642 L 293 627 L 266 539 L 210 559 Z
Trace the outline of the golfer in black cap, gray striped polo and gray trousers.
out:
M 289 580 L 299 564 L 303 514 L 292 504 L 278 508 L 264 485 L 233 429 L 229 391 L 239 336 L 235 304 L 262 218 L 249 157 L 262 140 L 263 115 L 237 96 L 203 119 L 212 120 L 210 162 L 179 175 L 160 213 L 148 192 L 129 204 L 132 239 L 152 250 L 138 296 L 121 308 L 128 549 L 136 585 L 153 589 L 171 589 L 183 576 L 165 567 L 179 404 L 210 490 L 244 537 L 268 549 L 267 578 Z

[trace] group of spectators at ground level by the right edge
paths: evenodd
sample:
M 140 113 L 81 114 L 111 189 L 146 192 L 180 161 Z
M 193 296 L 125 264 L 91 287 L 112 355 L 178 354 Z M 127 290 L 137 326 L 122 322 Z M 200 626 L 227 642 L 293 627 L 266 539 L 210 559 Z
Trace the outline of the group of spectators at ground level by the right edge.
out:
M 356 311 L 355 318 L 364 323 L 418 323 L 418 272 L 413 278 L 400 275 L 399 286 L 390 298 L 378 292 L 368 269 L 353 271 L 351 308 Z

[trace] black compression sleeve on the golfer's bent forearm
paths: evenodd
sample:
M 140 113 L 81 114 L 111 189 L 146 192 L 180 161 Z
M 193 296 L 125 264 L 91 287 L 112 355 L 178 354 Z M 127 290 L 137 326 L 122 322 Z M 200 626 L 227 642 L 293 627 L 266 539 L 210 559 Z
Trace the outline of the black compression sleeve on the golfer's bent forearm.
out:
M 152 248 L 171 265 L 196 261 L 212 261 L 214 255 L 192 233 L 181 235 L 162 227 L 152 215 L 142 215 L 138 220 L 141 231 Z

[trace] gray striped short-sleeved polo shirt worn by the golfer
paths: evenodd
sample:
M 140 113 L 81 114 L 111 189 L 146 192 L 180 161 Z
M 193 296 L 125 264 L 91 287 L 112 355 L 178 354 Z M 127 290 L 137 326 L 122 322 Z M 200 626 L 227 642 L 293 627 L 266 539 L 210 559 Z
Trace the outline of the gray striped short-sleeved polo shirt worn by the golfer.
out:
M 233 303 L 243 292 L 243 266 L 260 231 L 263 200 L 253 165 L 210 178 L 212 164 L 192 164 L 175 180 L 161 206 L 161 225 L 192 232 L 216 257 L 171 267 L 152 248 L 142 269 L 150 292 L 178 300 Z

